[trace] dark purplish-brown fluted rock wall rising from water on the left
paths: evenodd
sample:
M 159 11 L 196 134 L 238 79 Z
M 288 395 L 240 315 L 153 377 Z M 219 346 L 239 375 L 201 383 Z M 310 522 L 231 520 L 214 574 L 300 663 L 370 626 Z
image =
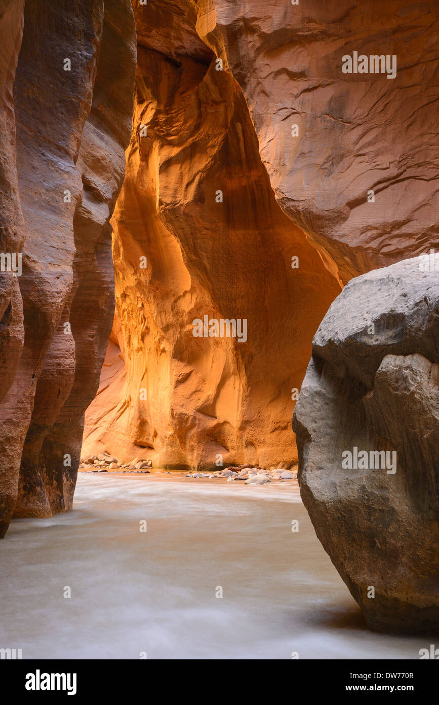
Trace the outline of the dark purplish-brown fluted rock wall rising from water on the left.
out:
M 0 274 L 0 350 L 8 341 L 17 350 L 1 390 L 4 534 L 13 513 L 50 516 L 72 504 L 84 410 L 113 320 L 109 219 L 124 174 L 136 43 L 127 0 L 27 0 L 21 47 L 23 3 L 0 21 L 11 42 L 1 245 L 23 252 L 21 276 Z

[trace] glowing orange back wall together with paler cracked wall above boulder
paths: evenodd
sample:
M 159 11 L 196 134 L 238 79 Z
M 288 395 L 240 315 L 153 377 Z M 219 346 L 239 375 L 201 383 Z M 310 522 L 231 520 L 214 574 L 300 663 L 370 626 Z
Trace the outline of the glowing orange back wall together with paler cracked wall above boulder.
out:
M 116 318 L 83 455 L 289 465 L 294 390 L 329 303 L 352 276 L 437 240 L 438 6 L 134 12 Z M 343 73 L 354 51 L 390 68 L 396 56 L 395 77 Z M 246 319 L 247 340 L 193 337 L 205 315 Z

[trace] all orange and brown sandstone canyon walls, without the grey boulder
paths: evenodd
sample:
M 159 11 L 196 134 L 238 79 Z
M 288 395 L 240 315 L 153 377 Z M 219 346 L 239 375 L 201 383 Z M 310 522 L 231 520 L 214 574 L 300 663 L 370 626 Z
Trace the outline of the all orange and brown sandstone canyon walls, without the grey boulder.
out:
M 0 0 L 1 532 L 70 507 L 95 395 L 84 454 L 297 460 L 329 305 L 437 244 L 438 13 Z M 355 52 L 390 78 L 343 73 Z

